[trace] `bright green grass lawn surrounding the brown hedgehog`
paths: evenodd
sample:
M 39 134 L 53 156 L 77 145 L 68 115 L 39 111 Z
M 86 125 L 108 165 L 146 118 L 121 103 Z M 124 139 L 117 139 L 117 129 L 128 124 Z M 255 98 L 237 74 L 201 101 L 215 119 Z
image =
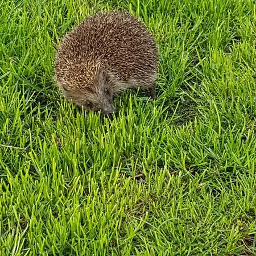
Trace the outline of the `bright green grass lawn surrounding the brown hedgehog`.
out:
M 52 77 L 61 37 L 113 9 L 161 60 L 158 100 L 108 119 Z M 2 1 L 0 255 L 256 255 L 255 23 L 254 0 Z

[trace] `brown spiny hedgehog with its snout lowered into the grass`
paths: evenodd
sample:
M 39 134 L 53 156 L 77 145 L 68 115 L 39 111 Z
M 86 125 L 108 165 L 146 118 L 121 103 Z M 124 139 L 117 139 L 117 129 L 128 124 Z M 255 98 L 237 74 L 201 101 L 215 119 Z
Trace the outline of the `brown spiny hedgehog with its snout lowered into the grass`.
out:
M 63 96 L 86 110 L 115 112 L 113 96 L 142 88 L 156 99 L 158 47 L 144 23 L 125 11 L 89 16 L 64 36 L 55 57 Z

